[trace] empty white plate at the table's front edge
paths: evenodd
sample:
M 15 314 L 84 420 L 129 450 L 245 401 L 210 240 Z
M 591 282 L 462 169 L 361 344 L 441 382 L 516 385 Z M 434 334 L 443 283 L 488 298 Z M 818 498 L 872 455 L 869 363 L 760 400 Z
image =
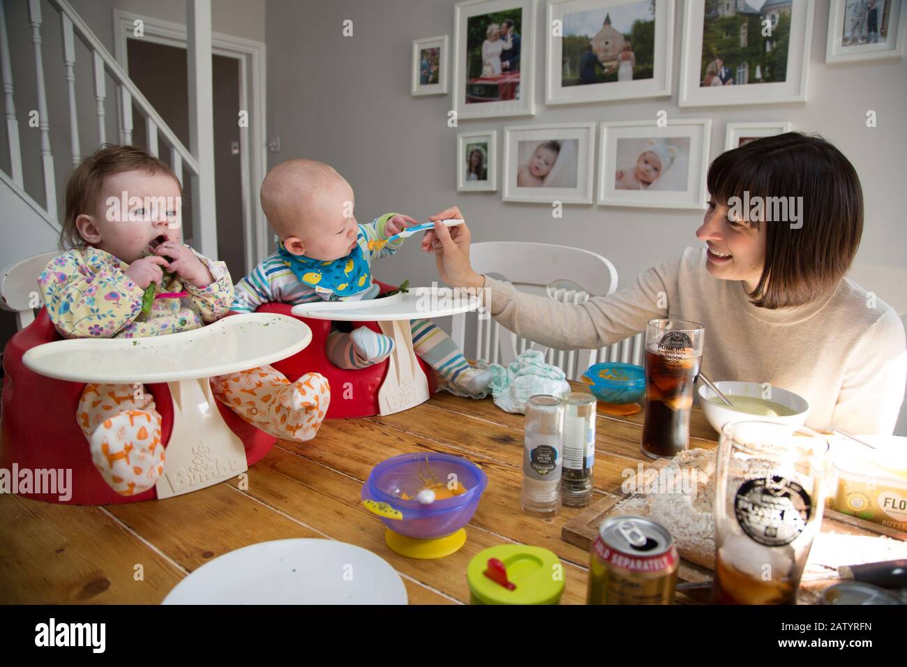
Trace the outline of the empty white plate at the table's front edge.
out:
M 366 549 L 322 539 L 274 540 L 223 554 L 163 604 L 406 604 L 400 575 Z

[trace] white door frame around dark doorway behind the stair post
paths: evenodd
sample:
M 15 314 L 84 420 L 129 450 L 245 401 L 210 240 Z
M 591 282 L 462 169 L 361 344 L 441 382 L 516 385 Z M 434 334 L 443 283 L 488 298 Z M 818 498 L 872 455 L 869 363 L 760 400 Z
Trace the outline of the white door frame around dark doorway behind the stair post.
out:
M 136 21 L 142 22 L 141 37 L 134 36 Z M 113 55 L 129 74 L 127 39 L 185 49 L 186 25 L 114 9 Z M 249 112 L 249 127 L 239 128 L 239 162 L 245 259 L 247 270 L 251 271 L 268 256 L 268 221 L 258 199 L 258 188 L 268 172 L 265 44 L 231 34 L 211 33 L 211 46 L 213 54 L 239 60 L 239 109 Z

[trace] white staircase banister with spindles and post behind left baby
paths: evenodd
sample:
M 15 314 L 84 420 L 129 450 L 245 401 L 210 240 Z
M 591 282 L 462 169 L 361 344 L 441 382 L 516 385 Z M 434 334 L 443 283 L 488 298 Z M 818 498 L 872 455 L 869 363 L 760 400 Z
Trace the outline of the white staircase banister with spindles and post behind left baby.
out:
M 48 6 L 53 15 L 43 15 Z M 0 74 L 8 153 L 8 159 L 0 158 L 0 233 L 5 239 L 0 244 L 0 268 L 56 248 L 65 179 L 73 165 L 103 143 L 132 143 L 135 122 L 145 123 L 145 148 L 168 163 L 190 193 L 191 227 L 183 230 L 183 238 L 191 240 L 202 254 L 217 256 L 210 12 L 210 0 L 187 1 L 187 148 L 66 0 L 0 0 Z M 10 34 L 21 39 L 11 43 Z M 45 54 L 60 58 L 48 61 L 46 77 Z M 23 91 L 26 86 L 20 85 L 17 93 L 13 74 L 22 72 L 26 59 L 34 60 L 34 89 L 29 85 Z M 77 79 L 79 69 L 91 75 Z M 48 92 L 52 93 L 51 113 Z M 85 113 L 85 100 L 93 103 L 92 113 Z M 111 132 L 113 117 L 115 131 Z M 60 122 L 66 118 L 68 127 Z M 51 119 L 58 122 L 53 128 Z M 25 132 L 40 134 L 40 148 L 34 135 Z M 68 143 L 63 158 L 66 164 L 55 166 L 52 145 L 59 150 L 60 137 L 67 135 L 68 142 L 63 143 Z M 39 183 L 34 178 L 29 182 L 28 174 L 37 172 Z

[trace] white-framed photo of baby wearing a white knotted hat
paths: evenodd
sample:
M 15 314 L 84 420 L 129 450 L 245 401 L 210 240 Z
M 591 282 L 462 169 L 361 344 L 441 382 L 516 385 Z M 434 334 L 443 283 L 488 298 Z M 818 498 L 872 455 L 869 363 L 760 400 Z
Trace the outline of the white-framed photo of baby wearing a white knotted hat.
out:
M 708 119 L 601 123 L 599 203 L 704 209 L 711 133 Z

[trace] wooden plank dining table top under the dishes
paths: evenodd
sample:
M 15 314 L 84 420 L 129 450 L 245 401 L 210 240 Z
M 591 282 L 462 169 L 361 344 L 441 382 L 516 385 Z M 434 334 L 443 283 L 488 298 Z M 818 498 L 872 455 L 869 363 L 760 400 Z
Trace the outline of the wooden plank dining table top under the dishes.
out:
M 639 450 L 642 417 L 599 415 L 593 502 L 618 492 L 625 471 L 650 465 Z M 520 509 L 523 419 L 491 397 L 441 391 L 394 415 L 328 420 L 308 442 L 279 441 L 249 468 L 248 479 L 186 495 L 105 506 L 0 495 L 0 603 L 161 603 L 183 577 L 219 555 L 295 537 L 340 540 L 380 555 L 414 604 L 468 603 L 466 566 L 486 547 L 541 546 L 565 566 L 561 603 L 585 603 L 589 554 L 561 539 L 562 526 L 581 510 L 565 507 L 541 519 Z M 694 408 L 690 445 L 714 448 L 716 437 Z M 489 479 L 463 548 L 440 560 L 395 554 L 384 525 L 360 505 L 372 468 L 409 452 L 463 456 Z

